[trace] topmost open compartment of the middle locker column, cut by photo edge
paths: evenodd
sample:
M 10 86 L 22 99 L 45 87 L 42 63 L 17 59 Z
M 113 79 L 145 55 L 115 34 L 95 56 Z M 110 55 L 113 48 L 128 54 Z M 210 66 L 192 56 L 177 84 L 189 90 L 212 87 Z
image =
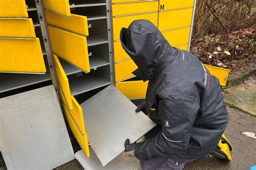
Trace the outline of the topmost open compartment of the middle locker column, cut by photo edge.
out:
M 69 0 L 70 8 L 106 5 L 106 0 Z

